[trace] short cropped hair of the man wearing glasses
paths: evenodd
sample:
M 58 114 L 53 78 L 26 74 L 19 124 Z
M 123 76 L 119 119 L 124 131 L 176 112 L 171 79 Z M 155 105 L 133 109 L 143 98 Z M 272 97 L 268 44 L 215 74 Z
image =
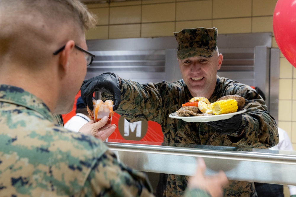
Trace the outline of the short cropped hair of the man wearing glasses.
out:
M 0 0 L 0 66 L 10 58 L 39 69 L 50 51 L 67 40 L 79 42 L 95 25 L 79 0 Z

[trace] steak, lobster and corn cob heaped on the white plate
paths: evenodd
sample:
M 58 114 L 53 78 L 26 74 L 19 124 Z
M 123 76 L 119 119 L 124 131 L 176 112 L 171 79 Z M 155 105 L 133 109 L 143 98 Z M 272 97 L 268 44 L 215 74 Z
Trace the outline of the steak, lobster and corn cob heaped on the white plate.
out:
M 227 95 L 210 103 L 205 97 L 193 97 L 189 102 L 182 104 L 177 111 L 178 116 L 206 116 L 237 112 L 246 103 L 244 97 Z

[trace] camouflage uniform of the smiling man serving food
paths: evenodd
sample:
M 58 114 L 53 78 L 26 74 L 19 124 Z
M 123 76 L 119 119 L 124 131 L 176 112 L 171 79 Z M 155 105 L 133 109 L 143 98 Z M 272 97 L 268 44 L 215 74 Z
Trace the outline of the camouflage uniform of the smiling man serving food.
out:
M 121 79 L 121 92 L 121 103 L 116 112 L 131 122 L 147 120 L 159 123 L 165 143 L 269 148 L 279 141 L 276 122 L 267 112 L 264 100 L 250 86 L 230 79 L 217 76 L 215 91 L 209 101 L 212 103 L 222 96 L 234 94 L 249 100 L 249 104 L 244 107 L 247 111 L 242 116 L 246 126 L 244 138 L 238 142 L 231 141 L 227 135 L 221 135 L 205 123 L 185 122 L 168 116 L 192 98 L 183 80 L 141 85 Z M 104 94 L 102 96 L 103 99 L 111 97 Z M 164 196 L 182 196 L 188 178 L 168 175 Z M 257 196 L 254 183 L 230 180 L 229 184 L 224 196 Z

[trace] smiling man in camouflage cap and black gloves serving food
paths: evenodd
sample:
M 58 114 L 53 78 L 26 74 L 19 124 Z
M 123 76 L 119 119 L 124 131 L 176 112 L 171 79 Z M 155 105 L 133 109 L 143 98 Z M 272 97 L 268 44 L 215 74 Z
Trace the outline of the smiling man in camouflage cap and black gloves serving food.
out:
M 217 76 L 223 56 L 218 53 L 217 29 L 184 29 L 175 33 L 178 63 L 183 79 L 174 82 L 138 84 L 104 73 L 84 82 L 81 96 L 92 108 L 91 95 L 101 91 L 104 98 L 113 96 L 116 111 L 128 121 L 155 121 L 162 127 L 165 143 L 202 144 L 269 148 L 278 143 L 277 125 L 267 112 L 260 95 L 251 87 Z M 244 114 L 222 121 L 189 123 L 169 118 L 182 104 L 196 96 L 211 103 L 225 95 L 240 95 L 249 100 Z M 119 105 L 120 104 L 120 105 Z M 168 175 L 163 196 L 182 196 L 188 177 Z M 229 181 L 225 196 L 257 196 L 254 184 Z

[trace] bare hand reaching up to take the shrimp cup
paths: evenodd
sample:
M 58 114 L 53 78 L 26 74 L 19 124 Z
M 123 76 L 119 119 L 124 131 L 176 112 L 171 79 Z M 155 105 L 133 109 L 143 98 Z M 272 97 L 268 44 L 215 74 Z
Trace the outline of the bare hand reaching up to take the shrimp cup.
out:
M 94 122 L 94 120 L 91 120 L 83 125 L 78 132 L 88 134 L 94 136 L 97 139 L 105 141 L 115 131 L 116 128 L 115 124 L 106 125 L 107 121 L 107 116 L 96 123 Z

